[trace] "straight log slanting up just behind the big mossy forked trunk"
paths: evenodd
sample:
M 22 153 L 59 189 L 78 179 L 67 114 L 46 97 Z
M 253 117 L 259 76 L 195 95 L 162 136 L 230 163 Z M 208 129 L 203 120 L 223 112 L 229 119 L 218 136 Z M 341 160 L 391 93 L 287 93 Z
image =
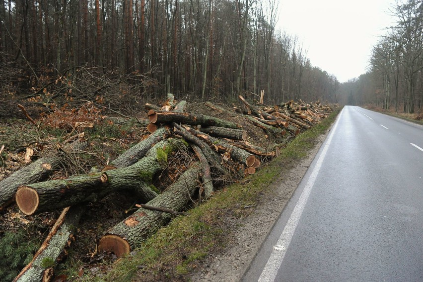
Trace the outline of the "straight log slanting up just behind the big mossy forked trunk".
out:
M 113 162 L 110 164 L 117 167 L 117 168 L 126 168 L 129 167 L 136 162 L 138 162 L 151 147 L 163 140 L 169 135 L 169 130 L 166 127 L 161 127 L 156 130 L 153 134 L 142 140 L 137 145 L 134 145 L 122 155 L 117 157 Z

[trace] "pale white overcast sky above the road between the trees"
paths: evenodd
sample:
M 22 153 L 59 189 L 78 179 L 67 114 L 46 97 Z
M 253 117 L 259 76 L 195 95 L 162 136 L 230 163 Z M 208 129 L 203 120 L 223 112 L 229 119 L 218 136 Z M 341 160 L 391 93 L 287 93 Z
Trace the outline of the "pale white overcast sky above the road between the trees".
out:
M 313 66 L 343 83 L 367 72 L 371 48 L 395 18 L 393 0 L 280 0 L 277 29 L 297 35 Z

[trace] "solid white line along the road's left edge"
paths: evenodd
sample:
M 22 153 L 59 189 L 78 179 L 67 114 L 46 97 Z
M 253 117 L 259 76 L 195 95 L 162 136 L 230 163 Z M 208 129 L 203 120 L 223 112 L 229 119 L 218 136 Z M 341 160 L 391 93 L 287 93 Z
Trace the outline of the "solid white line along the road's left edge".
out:
M 307 202 L 308 196 L 310 195 L 311 188 L 313 188 L 314 182 L 316 181 L 317 174 L 320 171 L 323 160 L 325 159 L 326 153 L 328 151 L 329 145 L 331 144 L 332 137 L 338 127 L 339 120 L 343 114 L 344 110 L 340 113 L 331 134 L 329 135 L 328 141 L 325 144 L 325 147 L 320 154 L 319 159 L 317 160 L 316 166 L 311 172 L 310 178 L 308 179 L 291 215 L 289 216 L 288 221 L 286 222 L 285 228 L 283 228 L 282 234 L 278 239 L 278 243 L 273 247 L 272 254 L 269 257 L 269 260 L 266 263 L 266 266 L 263 269 L 262 274 L 260 275 L 259 282 L 273 282 L 276 279 L 278 270 L 281 267 L 283 257 L 286 254 L 286 249 L 288 248 L 289 243 L 291 242 L 292 236 L 294 235 L 295 228 L 298 225 L 298 221 L 301 217 L 304 206 Z

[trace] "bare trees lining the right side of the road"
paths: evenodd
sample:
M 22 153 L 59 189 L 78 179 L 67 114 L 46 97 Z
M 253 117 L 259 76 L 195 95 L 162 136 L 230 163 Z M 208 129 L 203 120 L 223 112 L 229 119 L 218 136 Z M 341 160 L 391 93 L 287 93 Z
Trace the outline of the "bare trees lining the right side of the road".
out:
M 341 86 L 346 104 L 373 104 L 414 113 L 423 110 L 423 2 L 397 0 L 387 27 L 373 46 L 369 71 Z

